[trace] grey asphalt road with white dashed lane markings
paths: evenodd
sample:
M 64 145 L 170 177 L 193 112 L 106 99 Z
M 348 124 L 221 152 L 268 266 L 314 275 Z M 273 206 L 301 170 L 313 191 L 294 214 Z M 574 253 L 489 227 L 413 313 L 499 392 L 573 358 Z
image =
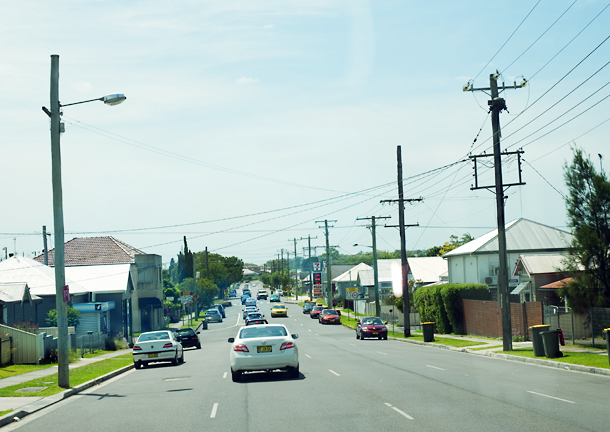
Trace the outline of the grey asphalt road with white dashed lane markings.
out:
M 253 294 L 258 287 L 253 287 Z M 6 430 L 138 431 L 607 431 L 604 376 L 399 341 L 356 340 L 288 305 L 270 322 L 298 333 L 301 375 L 245 374 L 231 381 L 235 300 L 186 363 L 130 371 Z M 52 425 L 52 427 L 50 426 Z

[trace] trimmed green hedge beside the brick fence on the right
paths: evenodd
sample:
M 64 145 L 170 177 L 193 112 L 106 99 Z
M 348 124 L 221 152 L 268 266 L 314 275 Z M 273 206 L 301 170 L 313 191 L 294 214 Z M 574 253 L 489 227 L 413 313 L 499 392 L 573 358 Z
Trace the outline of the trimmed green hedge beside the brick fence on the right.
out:
M 491 294 L 485 284 L 429 285 L 413 293 L 421 321 L 434 321 L 443 334 L 464 334 L 463 299 L 490 300 Z

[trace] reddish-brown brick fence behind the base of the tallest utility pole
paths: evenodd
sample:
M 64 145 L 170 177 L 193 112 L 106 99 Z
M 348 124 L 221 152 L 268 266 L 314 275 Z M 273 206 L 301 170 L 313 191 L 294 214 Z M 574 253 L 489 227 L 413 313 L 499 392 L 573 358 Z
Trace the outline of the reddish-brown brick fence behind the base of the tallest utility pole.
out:
M 502 311 L 495 301 L 463 300 L 466 334 L 502 337 Z M 511 303 L 513 336 L 530 339 L 528 327 L 544 322 L 542 302 Z

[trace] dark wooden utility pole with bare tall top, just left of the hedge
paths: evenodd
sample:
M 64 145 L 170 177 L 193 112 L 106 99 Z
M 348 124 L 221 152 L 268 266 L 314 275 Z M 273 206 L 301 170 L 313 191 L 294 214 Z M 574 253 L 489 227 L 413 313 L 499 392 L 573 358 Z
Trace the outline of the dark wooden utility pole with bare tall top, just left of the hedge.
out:
M 386 225 L 386 228 L 398 228 L 400 231 L 400 263 L 402 268 L 402 312 L 404 315 L 404 335 L 411 336 L 410 321 L 410 299 L 409 299 L 409 262 L 407 261 L 407 233 L 406 228 L 419 226 L 419 224 L 405 225 L 405 201 L 423 201 L 422 197 L 405 199 L 402 186 L 402 152 L 401 147 L 396 146 L 396 156 L 398 159 L 398 199 L 382 200 L 381 202 L 398 202 L 398 227 L 396 225 Z

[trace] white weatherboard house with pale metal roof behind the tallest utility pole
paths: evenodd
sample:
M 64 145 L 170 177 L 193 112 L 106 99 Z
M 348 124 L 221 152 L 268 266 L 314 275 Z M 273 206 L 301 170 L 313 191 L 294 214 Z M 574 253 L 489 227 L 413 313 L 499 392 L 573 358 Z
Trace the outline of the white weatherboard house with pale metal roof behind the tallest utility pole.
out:
M 514 274 L 520 255 L 557 255 L 567 251 L 572 234 L 528 219 L 506 224 L 508 274 Z M 495 229 L 445 255 L 450 283 L 487 284 L 492 295 L 498 289 L 498 230 Z M 510 289 L 518 286 L 511 279 Z M 533 300 L 533 298 L 531 298 Z

